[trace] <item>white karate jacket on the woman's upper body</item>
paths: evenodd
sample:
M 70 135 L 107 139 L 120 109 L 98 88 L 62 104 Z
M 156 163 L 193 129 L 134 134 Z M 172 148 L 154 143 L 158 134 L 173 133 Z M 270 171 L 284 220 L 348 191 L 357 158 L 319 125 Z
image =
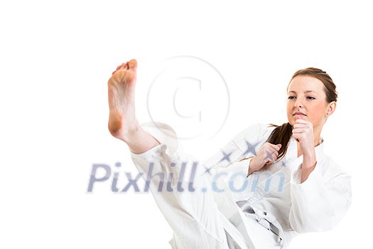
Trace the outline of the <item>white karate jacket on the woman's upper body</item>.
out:
M 232 223 L 237 223 L 238 213 L 244 219 L 240 208 L 231 204 L 246 201 L 256 210 L 276 218 L 286 247 L 291 238 L 299 233 L 334 228 L 345 216 L 352 201 L 351 182 L 350 175 L 323 152 L 324 142 L 321 142 L 315 147 L 315 169 L 301 183 L 303 156 L 298 157 L 297 142 L 293 138 L 283 159 L 247 178 L 242 177 L 249 170 L 250 159 L 273 130 L 274 127 L 269 124 L 255 124 L 237 134 L 204 164 L 215 174 L 221 172 L 225 176 L 225 183 L 220 183 L 222 185 L 217 189 L 225 186 L 227 191 L 215 193 L 215 201 L 228 220 L 232 222 L 235 216 L 236 221 Z M 244 233 L 244 228 L 240 232 Z

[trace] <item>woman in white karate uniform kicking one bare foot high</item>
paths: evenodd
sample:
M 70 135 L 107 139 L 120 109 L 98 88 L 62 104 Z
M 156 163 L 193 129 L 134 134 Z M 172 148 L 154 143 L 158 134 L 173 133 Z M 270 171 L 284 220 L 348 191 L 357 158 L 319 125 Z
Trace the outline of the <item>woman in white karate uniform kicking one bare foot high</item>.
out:
M 136 68 L 130 60 L 109 79 L 109 131 L 146 176 L 173 229 L 172 248 L 286 248 L 294 235 L 331 229 L 345 215 L 350 176 L 323 153 L 320 137 L 337 101 L 327 73 L 298 70 L 286 124 L 249 127 L 198 164 L 171 127 L 136 120 Z

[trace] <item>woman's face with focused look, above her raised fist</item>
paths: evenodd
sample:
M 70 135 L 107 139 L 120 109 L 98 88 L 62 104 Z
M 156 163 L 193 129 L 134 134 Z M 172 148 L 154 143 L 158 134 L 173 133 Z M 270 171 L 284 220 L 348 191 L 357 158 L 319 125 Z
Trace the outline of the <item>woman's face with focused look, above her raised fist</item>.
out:
M 317 78 L 298 75 L 288 85 L 287 114 L 291 125 L 302 119 L 313 124 L 313 129 L 321 128 L 328 115 L 335 110 L 335 102 L 328 103 L 323 83 Z

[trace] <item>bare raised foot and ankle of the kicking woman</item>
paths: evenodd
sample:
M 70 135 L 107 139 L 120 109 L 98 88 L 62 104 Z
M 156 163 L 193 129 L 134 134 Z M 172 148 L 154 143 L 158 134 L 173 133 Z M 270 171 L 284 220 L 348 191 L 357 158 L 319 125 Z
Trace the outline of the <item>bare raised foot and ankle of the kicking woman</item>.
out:
M 129 60 L 117 67 L 109 79 L 109 132 L 129 145 L 134 153 L 143 153 L 158 145 L 139 125 L 135 115 L 137 61 Z

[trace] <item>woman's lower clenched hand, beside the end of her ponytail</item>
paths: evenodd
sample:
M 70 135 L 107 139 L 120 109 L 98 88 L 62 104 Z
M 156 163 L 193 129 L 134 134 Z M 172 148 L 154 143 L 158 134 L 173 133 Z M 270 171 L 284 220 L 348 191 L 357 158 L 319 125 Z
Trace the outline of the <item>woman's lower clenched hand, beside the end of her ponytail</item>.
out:
M 281 144 L 270 144 L 266 142 L 259 149 L 256 157 L 253 157 L 249 165 L 249 174 L 254 171 L 259 171 L 266 164 L 273 164 L 279 157 L 279 150 L 281 149 Z

